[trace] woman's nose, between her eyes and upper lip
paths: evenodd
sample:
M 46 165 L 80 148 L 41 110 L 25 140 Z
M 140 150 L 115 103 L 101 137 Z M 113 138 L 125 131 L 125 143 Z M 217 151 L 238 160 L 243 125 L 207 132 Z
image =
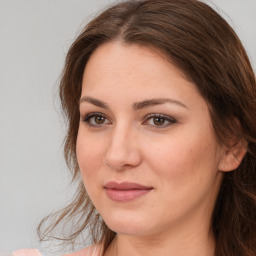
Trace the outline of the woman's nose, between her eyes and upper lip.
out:
M 105 153 L 105 165 L 115 171 L 138 166 L 142 159 L 136 138 L 136 132 L 132 128 L 114 128 Z

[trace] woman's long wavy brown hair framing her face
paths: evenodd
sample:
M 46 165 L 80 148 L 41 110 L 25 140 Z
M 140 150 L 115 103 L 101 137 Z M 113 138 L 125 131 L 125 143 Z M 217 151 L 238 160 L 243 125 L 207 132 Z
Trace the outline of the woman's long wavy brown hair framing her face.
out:
M 224 174 L 212 214 L 215 256 L 256 255 L 256 81 L 242 43 L 228 23 L 197 0 L 123 1 L 93 19 L 68 51 L 60 82 L 60 99 L 68 120 L 65 158 L 78 180 L 74 200 L 44 219 L 41 239 L 62 222 L 70 223 L 65 242 L 73 243 L 86 229 L 104 248 L 115 236 L 96 212 L 80 178 L 76 158 L 79 99 L 85 65 L 100 45 L 122 41 L 154 47 L 198 88 L 209 106 L 221 143 L 234 134 L 248 142 L 240 166 Z M 239 122 L 234 122 L 234 120 Z M 240 123 L 240 125 L 238 125 Z M 46 229 L 47 220 L 52 224 Z

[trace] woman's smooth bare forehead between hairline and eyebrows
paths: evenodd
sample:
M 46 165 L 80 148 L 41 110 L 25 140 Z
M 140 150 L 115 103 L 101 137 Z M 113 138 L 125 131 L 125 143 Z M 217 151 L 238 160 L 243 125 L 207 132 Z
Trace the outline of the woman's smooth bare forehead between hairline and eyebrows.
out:
M 91 55 L 84 70 L 82 96 L 104 101 L 116 101 L 117 97 L 133 101 L 175 97 L 190 104 L 202 101 L 196 86 L 163 53 L 121 42 L 105 43 Z

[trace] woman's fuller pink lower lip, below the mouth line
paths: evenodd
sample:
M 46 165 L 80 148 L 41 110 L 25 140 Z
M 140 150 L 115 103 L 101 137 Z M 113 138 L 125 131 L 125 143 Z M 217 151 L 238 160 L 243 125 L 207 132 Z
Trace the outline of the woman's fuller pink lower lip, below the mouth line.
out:
M 119 189 L 109 189 L 106 188 L 107 196 L 116 202 L 128 202 L 132 201 L 138 197 L 141 197 L 151 189 L 131 189 L 131 190 L 119 190 Z

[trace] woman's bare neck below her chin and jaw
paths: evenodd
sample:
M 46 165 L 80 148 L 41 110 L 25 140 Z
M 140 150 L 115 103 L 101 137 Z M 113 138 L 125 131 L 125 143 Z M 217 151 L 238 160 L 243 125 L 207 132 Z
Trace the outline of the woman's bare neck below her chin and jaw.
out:
M 117 234 L 104 256 L 214 256 L 214 236 L 209 225 L 204 227 L 186 225 L 150 236 Z

